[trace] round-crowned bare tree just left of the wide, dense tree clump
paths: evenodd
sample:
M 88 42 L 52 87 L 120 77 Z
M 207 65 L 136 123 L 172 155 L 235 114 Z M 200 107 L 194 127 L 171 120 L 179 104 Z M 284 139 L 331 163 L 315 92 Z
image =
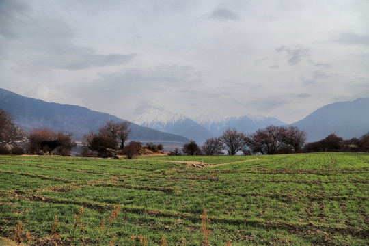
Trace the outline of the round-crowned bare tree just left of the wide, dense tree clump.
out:
M 245 133 L 238 133 L 238 131 L 233 128 L 232 130 L 228 128 L 221 135 L 220 140 L 226 145 L 229 155 L 234 155 L 238 151 L 243 150 L 246 146 L 246 135 Z

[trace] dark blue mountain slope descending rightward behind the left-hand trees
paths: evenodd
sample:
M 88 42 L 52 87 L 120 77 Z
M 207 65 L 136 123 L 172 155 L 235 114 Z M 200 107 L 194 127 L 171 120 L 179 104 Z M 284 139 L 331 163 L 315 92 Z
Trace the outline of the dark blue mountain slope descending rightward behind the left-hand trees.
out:
M 90 130 L 96 131 L 109 120 L 123 121 L 108 113 L 100 113 L 76 105 L 44 102 L 3 89 L 0 89 L 0 108 L 9 111 L 14 122 L 25 131 L 49 128 L 53 131 L 73 133 L 73 138 L 76 140 L 81 140 Z M 162 133 L 137 124 L 131 123 L 131 128 L 130 140 L 178 142 L 178 146 L 189 141 L 179 135 Z

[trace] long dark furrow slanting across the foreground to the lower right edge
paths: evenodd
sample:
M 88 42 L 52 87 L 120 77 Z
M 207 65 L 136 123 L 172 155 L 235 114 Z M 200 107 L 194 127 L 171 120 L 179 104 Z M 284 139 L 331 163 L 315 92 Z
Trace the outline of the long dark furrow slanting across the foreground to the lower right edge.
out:
M 66 200 L 66 199 L 56 199 L 53 197 L 44 197 L 40 195 L 29 195 L 24 197 L 26 200 L 35 201 L 35 202 L 46 202 L 51 204 L 75 204 L 85 206 L 87 208 L 91 208 L 94 210 L 111 210 L 116 207 L 114 204 L 100 204 L 97 202 L 87 202 L 81 200 Z M 157 209 L 148 209 L 142 207 L 133 207 L 133 206 L 124 206 L 120 205 L 122 210 L 128 213 L 147 213 L 148 215 L 152 215 L 154 217 L 170 217 L 170 218 L 180 218 L 180 219 L 188 219 L 193 221 L 193 223 L 200 223 L 202 220 L 202 215 L 195 215 L 192 213 L 182 213 L 182 212 L 174 212 L 168 210 L 157 210 Z M 236 219 L 236 218 L 224 218 L 224 217 L 208 217 L 210 219 L 210 223 L 219 223 L 219 224 L 232 224 L 232 225 L 251 225 L 259 228 L 273 228 L 273 229 L 285 229 L 289 232 L 293 232 L 294 234 L 301 234 L 303 231 L 308 230 L 324 230 L 329 233 L 340 233 L 343 235 L 350 234 L 351 236 L 359 237 L 359 238 L 369 238 L 369 230 L 366 228 L 356 228 L 353 226 L 329 226 L 325 224 L 316 224 L 312 221 L 308 223 L 292 223 L 287 221 L 262 221 L 256 219 Z

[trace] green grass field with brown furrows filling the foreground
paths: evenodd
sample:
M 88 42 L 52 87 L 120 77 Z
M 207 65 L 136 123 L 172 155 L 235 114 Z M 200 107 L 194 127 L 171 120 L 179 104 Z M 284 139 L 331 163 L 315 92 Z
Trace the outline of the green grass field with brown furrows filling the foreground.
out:
M 368 245 L 368 178 L 369 154 L 357 153 L 0 156 L 0 236 L 13 238 L 20 222 L 23 240 L 28 231 L 31 245 L 51 245 L 57 215 L 58 245 L 72 245 L 83 206 L 74 244 L 96 245 L 102 218 L 120 206 L 100 245 L 114 236 L 114 245 L 141 245 L 139 234 L 148 245 L 163 235 L 169 245 L 202 245 L 204 209 L 210 245 Z

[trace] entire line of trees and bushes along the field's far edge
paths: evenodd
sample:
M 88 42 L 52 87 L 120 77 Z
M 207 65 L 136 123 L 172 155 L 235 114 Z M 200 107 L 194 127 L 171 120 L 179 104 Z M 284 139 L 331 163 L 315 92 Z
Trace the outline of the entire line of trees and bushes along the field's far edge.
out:
M 139 154 L 142 143 L 130 141 L 125 144 L 131 133 L 130 122 L 113 122 L 110 120 L 100 127 L 97 132 L 83 137 L 83 156 L 115 156 L 115 153 L 124 154 L 128 159 Z M 23 148 L 12 146 L 10 143 L 20 141 L 25 133 L 17 128 L 10 114 L 0 109 L 0 154 L 23 154 Z M 51 154 L 62 156 L 70 155 L 70 151 L 76 142 L 72 140 L 72 134 L 55 132 L 49 129 L 35 129 L 28 135 L 27 154 Z M 176 148 L 170 152 L 173 155 L 234 155 L 243 154 L 288 154 L 299 152 L 368 152 L 369 134 L 360 139 L 344 140 L 334 133 L 320 141 L 305 143 L 306 133 L 296 126 L 274 126 L 258 129 L 255 133 L 246 135 L 236 129 L 228 128 L 220 137 L 212 137 L 198 146 L 195 141 L 184 143 L 182 150 Z M 146 148 L 161 152 L 163 145 L 146 143 Z M 113 154 L 111 154 L 113 153 Z

